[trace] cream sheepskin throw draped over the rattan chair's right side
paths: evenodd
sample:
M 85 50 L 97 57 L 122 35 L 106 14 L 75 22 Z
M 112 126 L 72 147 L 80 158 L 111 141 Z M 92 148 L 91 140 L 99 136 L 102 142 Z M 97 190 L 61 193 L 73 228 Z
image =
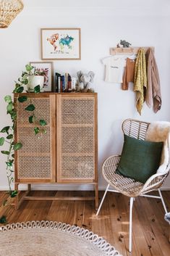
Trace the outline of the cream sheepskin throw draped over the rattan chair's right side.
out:
M 161 165 L 157 173 L 163 173 L 169 164 L 169 145 L 170 145 L 170 123 L 157 121 L 150 123 L 145 136 L 146 141 L 163 141 L 163 152 L 161 155 Z

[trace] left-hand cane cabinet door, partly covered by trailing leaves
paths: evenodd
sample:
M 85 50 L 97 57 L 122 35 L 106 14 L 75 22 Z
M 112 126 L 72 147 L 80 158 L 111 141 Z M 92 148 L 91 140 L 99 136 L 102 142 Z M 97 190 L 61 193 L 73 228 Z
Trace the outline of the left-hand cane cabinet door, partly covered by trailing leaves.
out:
M 15 182 L 46 183 L 56 181 L 56 96 L 54 94 L 25 94 L 27 102 L 17 100 L 15 141 L 22 143 L 22 149 L 15 152 Z M 23 96 L 23 94 L 22 94 Z M 28 104 L 35 105 L 35 123 L 29 123 L 33 112 L 26 111 Z M 39 120 L 46 120 L 42 127 Z M 45 128 L 46 133 L 35 135 L 34 127 Z

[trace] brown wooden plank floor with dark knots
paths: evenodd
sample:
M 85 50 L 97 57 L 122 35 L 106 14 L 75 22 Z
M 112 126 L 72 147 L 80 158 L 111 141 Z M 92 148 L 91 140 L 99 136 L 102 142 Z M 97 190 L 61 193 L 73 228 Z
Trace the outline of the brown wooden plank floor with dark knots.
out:
M 91 191 L 31 191 L 34 196 L 82 196 Z M 103 192 L 99 193 L 102 197 Z M 2 202 L 7 194 L 0 192 Z M 170 191 L 163 191 L 170 211 Z M 1 203 L 0 202 L 0 203 Z M 129 199 L 121 194 L 108 193 L 98 217 L 94 202 L 32 201 L 23 202 L 19 210 L 8 206 L 0 215 L 6 215 L 8 223 L 27 220 L 56 220 L 88 228 L 103 236 L 122 255 L 169 256 L 169 224 L 163 219 L 164 212 L 159 199 L 138 197 L 133 209 L 132 253 L 128 252 Z

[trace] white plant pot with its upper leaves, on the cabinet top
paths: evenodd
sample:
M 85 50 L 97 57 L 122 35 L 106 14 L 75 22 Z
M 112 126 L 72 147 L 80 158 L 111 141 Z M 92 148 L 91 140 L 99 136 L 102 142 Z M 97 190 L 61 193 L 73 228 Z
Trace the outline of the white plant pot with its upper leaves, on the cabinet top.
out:
M 35 67 L 29 64 L 27 64 L 25 68 L 26 71 L 22 73 L 22 80 L 24 80 L 25 85 L 27 85 L 27 91 L 33 92 L 35 86 L 40 86 L 42 91 L 45 73 L 43 71 L 36 70 Z

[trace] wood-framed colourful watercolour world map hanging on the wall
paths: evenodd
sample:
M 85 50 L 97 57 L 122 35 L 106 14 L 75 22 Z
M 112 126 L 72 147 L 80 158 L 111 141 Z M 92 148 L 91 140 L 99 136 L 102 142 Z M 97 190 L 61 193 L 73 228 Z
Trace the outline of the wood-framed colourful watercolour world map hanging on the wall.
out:
M 41 59 L 81 59 L 80 28 L 41 28 Z

